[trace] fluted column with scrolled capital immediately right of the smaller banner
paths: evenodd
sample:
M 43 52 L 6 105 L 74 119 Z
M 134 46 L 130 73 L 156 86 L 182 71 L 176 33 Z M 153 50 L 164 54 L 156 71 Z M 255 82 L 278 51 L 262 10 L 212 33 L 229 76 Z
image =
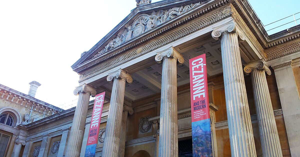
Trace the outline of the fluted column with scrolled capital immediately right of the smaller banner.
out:
M 130 74 L 119 69 L 108 75 L 107 81 L 113 82 L 113 89 L 110 98 L 110 109 L 107 117 L 102 157 L 118 157 L 121 142 L 125 83 L 132 83 L 132 78 Z

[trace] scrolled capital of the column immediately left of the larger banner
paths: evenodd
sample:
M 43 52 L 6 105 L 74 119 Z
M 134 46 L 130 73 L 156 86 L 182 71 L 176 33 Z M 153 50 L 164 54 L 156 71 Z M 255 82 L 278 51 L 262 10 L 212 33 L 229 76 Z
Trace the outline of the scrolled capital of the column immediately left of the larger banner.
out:
M 177 60 L 177 64 L 179 65 L 184 63 L 182 54 L 177 52 L 173 46 L 171 46 L 167 50 L 158 52 L 157 55 L 155 56 L 155 61 L 157 63 L 161 63 L 164 60 L 164 58 L 174 58 Z

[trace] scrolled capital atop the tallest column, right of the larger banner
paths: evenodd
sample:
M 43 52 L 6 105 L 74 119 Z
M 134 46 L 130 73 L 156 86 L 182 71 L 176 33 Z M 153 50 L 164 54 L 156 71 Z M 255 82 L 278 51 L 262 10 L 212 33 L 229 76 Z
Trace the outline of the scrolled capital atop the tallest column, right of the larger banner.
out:
M 214 30 L 211 32 L 211 36 L 215 40 L 219 40 L 220 36 L 222 36 L 225 33 L 230 33 L 230 32 L 235 33 L 238 36 L 239 42 L 242 42 L 246 39 L 244 33 L 240 32 L 236 29 L 236 24 L 234 22 L 228 22 L 224 25 L 215 27 L 213 29 Z

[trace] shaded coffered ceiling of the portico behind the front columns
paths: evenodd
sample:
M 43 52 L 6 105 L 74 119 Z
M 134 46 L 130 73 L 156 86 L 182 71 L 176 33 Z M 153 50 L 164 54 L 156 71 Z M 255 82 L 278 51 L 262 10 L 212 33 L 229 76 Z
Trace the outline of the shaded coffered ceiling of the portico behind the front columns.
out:
M 193 39 L 176 46 L 175 49 L 184 56 L 184 64 L 177 65 L 177 86 L 190 82 L 188 60 L 204 53 L 206 54 L 207 59 L 208 77 L 222 73 L 220 47 L 220 41 L 216 41 L 210 36 Z M 154 58 L 150 58 L 143 62 L 147 64 L 144 64 L 137 69 L 132 69 L 130 71 L 124 69 L 132 75 L 134 80 L 131 84 L 126 84 L 125 97 L 128 100 L 134 101 L 161 92 L 162 64 L 156 63 Z M 103 80 L 101 83 L 94 83 L 93 85 L 102 90 L 103 87 L 104 89 L 112 89 L 113 83 L 108 83 Z

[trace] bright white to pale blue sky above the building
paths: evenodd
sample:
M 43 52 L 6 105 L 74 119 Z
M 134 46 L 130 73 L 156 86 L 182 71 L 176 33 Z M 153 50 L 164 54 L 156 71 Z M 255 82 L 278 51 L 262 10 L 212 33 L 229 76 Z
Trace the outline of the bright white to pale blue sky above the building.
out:
M 299 0 L 248 1 L 264 25 L 300 12 Z M 35 80 L 35 98 L 55 106 L 77 99 L 79 75 L 70 66 L 135 7 L 134 0 L 0 1 L 0 84 L 28 94 Z

